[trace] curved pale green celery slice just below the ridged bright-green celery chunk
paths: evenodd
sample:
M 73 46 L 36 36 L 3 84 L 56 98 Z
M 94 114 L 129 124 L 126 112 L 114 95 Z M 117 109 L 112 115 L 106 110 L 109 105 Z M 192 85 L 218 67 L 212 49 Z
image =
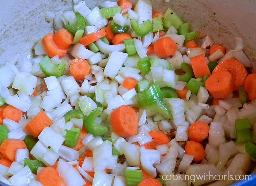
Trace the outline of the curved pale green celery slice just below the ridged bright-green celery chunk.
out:
M 167 120 L 173 119 L 171 110 L 161 100 L 156 100 L 153 103 L 150 103 L 147 107 L 150 111 L 152 112 L 156 111 L 158 114 L 162 115 L 162 117 Z

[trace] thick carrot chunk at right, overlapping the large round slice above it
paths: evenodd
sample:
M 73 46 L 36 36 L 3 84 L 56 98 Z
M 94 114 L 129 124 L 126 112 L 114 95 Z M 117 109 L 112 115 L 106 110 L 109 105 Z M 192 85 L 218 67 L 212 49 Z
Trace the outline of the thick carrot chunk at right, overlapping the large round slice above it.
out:
M 233 92 L 232 76 L 228 71 L 213 73 L 204 84 L 213 98 L 225 98 Z

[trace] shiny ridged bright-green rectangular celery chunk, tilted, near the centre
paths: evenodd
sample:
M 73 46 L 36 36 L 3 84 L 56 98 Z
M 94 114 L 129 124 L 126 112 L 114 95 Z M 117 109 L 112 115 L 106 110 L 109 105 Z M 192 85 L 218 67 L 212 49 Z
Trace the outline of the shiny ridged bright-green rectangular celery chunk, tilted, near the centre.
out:
M 145 107 L 161 97 L 162 92 L 157 82 L 135 95 L 140 107 Z

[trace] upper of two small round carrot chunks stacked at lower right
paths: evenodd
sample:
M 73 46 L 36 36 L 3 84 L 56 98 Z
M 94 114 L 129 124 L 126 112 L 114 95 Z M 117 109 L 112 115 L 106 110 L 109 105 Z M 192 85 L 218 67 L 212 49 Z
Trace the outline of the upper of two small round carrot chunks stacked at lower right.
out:
M 201 143 L 208 138 L 210 126 L 206 122 L 196 121 L 188 127 L 189 140 Z

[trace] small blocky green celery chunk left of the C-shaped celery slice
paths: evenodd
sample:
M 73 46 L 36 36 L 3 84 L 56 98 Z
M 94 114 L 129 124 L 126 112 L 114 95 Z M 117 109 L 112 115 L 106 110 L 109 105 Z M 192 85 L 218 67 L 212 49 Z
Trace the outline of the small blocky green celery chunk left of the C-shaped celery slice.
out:
M 73 127 L 70 130 L 65 129 L 66 135 L 65 135 L 65 145 L 67 147 L 75 147 L 78 143 L 79 135 L 80 135 L 80 129 Z

